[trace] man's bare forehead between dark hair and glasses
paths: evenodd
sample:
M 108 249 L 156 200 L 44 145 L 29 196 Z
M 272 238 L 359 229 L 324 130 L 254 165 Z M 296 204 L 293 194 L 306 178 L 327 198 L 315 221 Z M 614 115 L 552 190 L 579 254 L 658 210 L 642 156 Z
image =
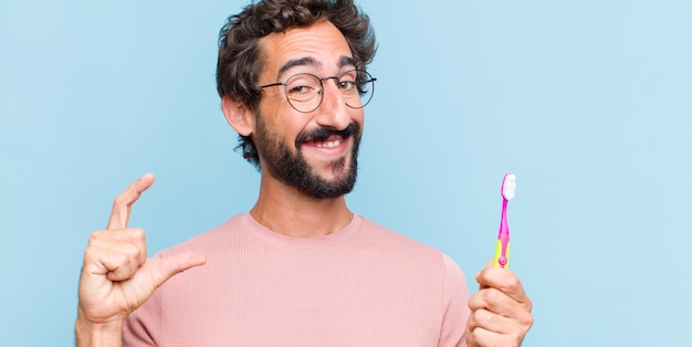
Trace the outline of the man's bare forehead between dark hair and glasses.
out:
M 329 74 L 344 66 L 355 67 L 346 39 L 329 21 L 272 33 L 261 40 L 261 48 L 263 75 L 269 80 L 298 70 Z

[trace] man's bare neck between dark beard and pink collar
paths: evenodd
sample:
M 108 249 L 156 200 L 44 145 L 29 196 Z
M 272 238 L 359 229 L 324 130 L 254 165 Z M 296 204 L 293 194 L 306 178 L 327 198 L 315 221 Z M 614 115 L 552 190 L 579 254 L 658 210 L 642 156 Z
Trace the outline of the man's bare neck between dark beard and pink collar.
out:
M 260 183 L 260 197 L 250 214 L 269 230 L 292 238 L 328 235 L 353 220 L 353 212 L 343 196 L 317 199 L 264 177 Z

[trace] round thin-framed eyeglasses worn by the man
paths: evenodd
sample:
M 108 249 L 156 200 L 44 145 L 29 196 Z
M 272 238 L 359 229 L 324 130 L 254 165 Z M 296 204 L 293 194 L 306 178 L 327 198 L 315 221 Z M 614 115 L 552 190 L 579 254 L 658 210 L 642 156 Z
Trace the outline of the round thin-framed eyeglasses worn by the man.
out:
M 310 113 L 317 109 L 319 104 L 322 104 L 324 98 L 322 81 L 326 80 L 334 80 L 346 105 L 352 108 L 363 108 L 370 102 L 375 92 L 375 81 L 377 81 L 377 78 L 374 78 L 363 70 L 352 70 L 338 77 L 329 76 L 324 78 L 308 73 L 300 73 L 289 77 L 286 82 L 266 84 L 259 86 L 259 88 L 283 85 L 291 107 L 297 112 Z

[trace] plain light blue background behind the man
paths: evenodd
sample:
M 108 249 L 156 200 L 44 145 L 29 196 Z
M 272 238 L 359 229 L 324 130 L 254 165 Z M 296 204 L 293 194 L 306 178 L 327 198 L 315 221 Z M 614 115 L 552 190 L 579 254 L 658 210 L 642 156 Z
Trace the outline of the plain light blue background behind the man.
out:
M 2 345 L 72 344 L 88 235 L 145 172 L 150 253 L 253 204 L 213 76 L 245 3 L 0 3 Z M 475 291 L 512 170 L 525 346 L 691 346 L 692 2 L 360 3 L 379 80 L 352 209 Z

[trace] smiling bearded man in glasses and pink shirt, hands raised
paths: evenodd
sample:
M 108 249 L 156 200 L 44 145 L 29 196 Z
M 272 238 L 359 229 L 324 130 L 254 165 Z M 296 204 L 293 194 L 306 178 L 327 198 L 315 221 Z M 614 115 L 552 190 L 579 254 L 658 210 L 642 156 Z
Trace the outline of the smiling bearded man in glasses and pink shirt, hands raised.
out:
M 147 259 L 127 221 L 154 177 L 135 181 L 85 251 L 77 345 L 520 345 L 531 302 L 514 274 L 482 270 L 469 298 L 451 259 L 346 206 L 374 53 L 352 0 L 264 0 L 231 17 L 218 90 L 260 168 L 258 201 Z

